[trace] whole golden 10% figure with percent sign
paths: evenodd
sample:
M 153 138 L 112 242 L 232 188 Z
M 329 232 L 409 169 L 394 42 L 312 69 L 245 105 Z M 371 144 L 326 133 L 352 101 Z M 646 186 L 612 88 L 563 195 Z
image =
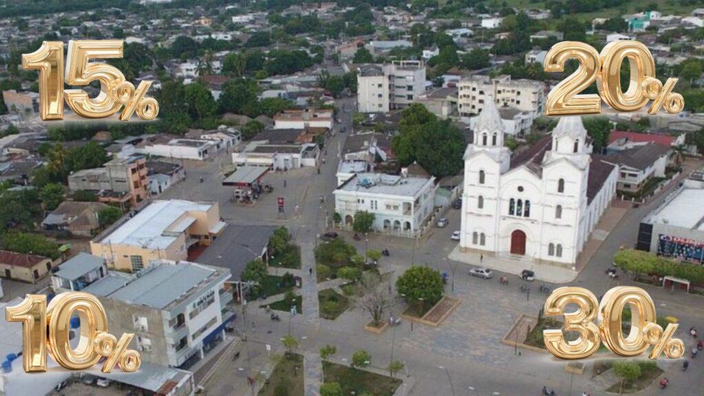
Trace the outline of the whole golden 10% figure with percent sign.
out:
M 76 347 L 70 343 L 70 322 L 80 317 L 80 336 Z M 5 309 L 8 322 L 22 323 L 22 361 L 25 372 L 46 371 L 46 352 L 57 364 L 70 370 L 85 370 L 105 358 L 101 371 L 139 369 L 142 357 L 127 349 L 134 333 L 120 340 L 108 334 L 108 319 L 99 299 L 86 292 L 63 292 L 46 305 L 46 295 L 27 295 L 23 302 Z M 48 329 L 48 331 L 47 331 Z

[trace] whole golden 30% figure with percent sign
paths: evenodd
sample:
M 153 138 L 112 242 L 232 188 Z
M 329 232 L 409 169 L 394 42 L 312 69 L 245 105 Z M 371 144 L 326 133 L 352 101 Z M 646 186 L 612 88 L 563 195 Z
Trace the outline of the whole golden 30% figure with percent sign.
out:
M 567 312 L 574 304 L 577 309 Z M 622 330 L 622 312 L 629 304 L 631 329 L 627 335 Z M 665 329 L 655 323 L 655 304 L 648 292 L 631 286 L 614 287 L 603 296 L 601 304 L 596 296 L 582 287 L 560 287 L 545 302 L 546 316 L 564 316 L 565 331 L 579 333 L 577 340 L 566 340 L 562 329 L 543 330 L 547 349 L 561 359 L 584 359 L 599 349 L 601 342 L 613 353 L 633 357 L 652 345 L 648 357 L 658 359 L 660 354 L 670 359 L 684 355 L 684 342 L 672 338 L 677 323 Z

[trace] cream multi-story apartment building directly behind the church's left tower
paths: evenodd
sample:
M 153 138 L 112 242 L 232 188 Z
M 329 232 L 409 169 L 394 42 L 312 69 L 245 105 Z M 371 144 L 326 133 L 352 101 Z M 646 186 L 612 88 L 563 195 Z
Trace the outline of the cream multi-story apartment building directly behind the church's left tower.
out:
M 489 98 L 496 106 L 511 106 L 536 115 L 543 112 L 545 85 L 534 80 L 511 80 L 510 75 L 490 78 L 488 75 L 472 75 L 460 79 L 458 84 L 458 111 L 460 117 L 471 117 L 481 113 Z

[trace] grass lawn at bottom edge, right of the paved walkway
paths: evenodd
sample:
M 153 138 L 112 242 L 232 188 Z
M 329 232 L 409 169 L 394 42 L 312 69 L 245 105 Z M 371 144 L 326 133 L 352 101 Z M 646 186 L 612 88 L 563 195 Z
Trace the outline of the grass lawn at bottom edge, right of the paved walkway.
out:
M 342 387 L 343 395 L 391 396 L 401 385 L 401 380 L 382 376 L 369 371 L 352 369 L 341 364 L 322 362 L 322 373 L 325 382 L 337 382 Z

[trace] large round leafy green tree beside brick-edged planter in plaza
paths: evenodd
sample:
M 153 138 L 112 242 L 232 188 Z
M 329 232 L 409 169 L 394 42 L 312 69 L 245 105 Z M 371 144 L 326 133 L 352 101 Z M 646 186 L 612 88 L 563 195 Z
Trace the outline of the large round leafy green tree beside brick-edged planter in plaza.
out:
M 440 301 L 444 284 L 438 271 L 412 266 L 396 280 L 396 291 L 408 304 L 418 304 L 425 309 Z

